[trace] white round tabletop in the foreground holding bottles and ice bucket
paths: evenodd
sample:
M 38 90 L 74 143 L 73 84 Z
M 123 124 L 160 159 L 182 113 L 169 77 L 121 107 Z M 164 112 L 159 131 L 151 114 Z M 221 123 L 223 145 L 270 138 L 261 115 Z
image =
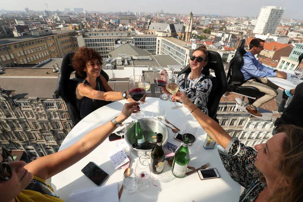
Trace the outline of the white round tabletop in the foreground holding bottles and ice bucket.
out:
M 159 98 L 148 97 L 146 100 L 148 101 L 147 105 L 140 105 L 141 108 L 145 109 L 145 117 L 150 117 L 152 115 L 152 108 L 165 106 L 167 110 L 167 119 L 177 126 L 181 130 L 181 133 L 184 127 L 189 123 L 197 126 L 197 140 L 191 146 L 192 154 L 190 156 L 191 160 L 189 165 L 198 168 L 209 162 L 211 164 L 209 168 L 217 168 L 221 177 L 216 179 L 200 180 L 198 174 L 194 173 L 189 176 L 185 175 L 184 178 L 174 178 L 170 182 L 159 182 L 159 180 L 157 180 L 156 184 L 159 186 L 154 186 L 150 179 L 151 186 L 146 192 L 137 191 L 134 194 L 129 194 L 126 190 L 123 190 L 120 201 L 238 201 L 240 196 L 240 185 L 232 180 L 223 167 L 217 148 L 213 150 L 203 149 L 203 142 L 206 138 L 206 133 L 199 123 L 192 118 L 192 116 L 189 116 L 188 109 L 183 106 L 180 109 L 172 110 L 170 108 L 173 107 L 174 102 L 161 101 Z M 125 100 L 113 102 L 86 116 L 69 132 L 59 150 L 69 147 L 90 130 L 99 127 L 110 121 L 113 117 L 118 116 L 125 102 Z M 178 105 L 181 104 L 178 103 Z M 133 119 L 129 118 L 126 122 L 130 122 L 132 120 Z M 180 143 L 173 140 L 174 134 L 175 133 L 169 129 L 168 141 L 179 146 Z M 109 153 L 116 148 L 116 141 L 110 142 L 107 138 L 107 140 L 105 140 L 86 157 L 66 170 L 53 176 L 52 187 L 57 196 L 60 196 L 63 200 L 67 200 L 68 196 L 74 190 L 97 187 L 97 185 L 95 185 L 81 172 L 81 169 L 90 161 L 99 165 L 101 169 L 109 174 L 108 179 L 103 183 L 103 185 L 118 182 L 119 191 L 122 185 L 124 169 L 118 168 L 115 170 L 111 160 L 109 159 Z M 135 169 L 136 164 L 134 161 L 137 161 L 137 158 L 137 156 L 132 154 L 130 165 L 132 170 Z M 188 171 L 190 170 L 188 169 Z M 171 172 L 171 167 L 168 165 L 167 161 L 165 161 L 163 172 Z M 151 176 L 157 178 L 157 175 L 152 174 Z

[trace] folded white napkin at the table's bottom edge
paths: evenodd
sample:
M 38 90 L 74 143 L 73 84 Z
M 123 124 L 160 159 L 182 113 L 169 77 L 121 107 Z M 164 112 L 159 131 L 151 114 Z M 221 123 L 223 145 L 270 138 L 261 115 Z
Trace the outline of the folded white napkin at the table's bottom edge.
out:
M 93 187 L 87 189 L 75 190 L 69 195 L 67 202 L 100 202 L 113 201 L 119 202 L 118 183 L 114 182 L 110 185 L 102 187 Z

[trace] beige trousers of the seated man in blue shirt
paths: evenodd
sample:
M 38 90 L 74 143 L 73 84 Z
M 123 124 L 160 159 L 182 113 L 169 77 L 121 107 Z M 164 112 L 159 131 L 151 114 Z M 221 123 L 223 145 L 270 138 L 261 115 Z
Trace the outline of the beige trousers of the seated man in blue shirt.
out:
M 261 83 L 257 82 L 256 79 L 250 79 L 241 85 L 241 86 L 254 86 L 257 89 L 259 89 L 260 92 L 265 93 L 263 97 L 260 97 L 253 103 L 254 107 L 256 108 L 274 99 L 278 95 L 277 89 L 279 88 L 279 86 L 267 80 L 266 78 L 257 78 L 257 79 L 260 80 Z

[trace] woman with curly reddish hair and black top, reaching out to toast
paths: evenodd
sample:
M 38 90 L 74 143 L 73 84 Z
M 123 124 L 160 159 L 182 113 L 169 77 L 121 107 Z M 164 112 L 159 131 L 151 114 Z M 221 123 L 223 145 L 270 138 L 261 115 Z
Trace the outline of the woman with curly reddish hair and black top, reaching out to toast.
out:
M 80 117 L 84 118 L 96 109 L 122 99 L 133 101 L 128 91 L 114 92 L 101 72 L 102 57 L 91 49 L 82 46 L 75 51 L 72 65 L 76 73 L 84 78 L 76 87 L 76 104 Z

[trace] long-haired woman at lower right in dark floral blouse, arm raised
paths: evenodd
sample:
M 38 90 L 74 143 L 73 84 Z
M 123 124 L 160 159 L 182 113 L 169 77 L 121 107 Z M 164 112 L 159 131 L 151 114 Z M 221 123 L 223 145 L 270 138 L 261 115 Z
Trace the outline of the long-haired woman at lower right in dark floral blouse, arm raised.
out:
M 303 201 L 303 128 L 279 128 L 266 143 L 246 147 L 206 116 L 183 92 L 173 95 L 220 146 L 222 163 L 232 179 L 245 190 L 239 202 Z M 219 148 L 220 148 L 219 146 Z

